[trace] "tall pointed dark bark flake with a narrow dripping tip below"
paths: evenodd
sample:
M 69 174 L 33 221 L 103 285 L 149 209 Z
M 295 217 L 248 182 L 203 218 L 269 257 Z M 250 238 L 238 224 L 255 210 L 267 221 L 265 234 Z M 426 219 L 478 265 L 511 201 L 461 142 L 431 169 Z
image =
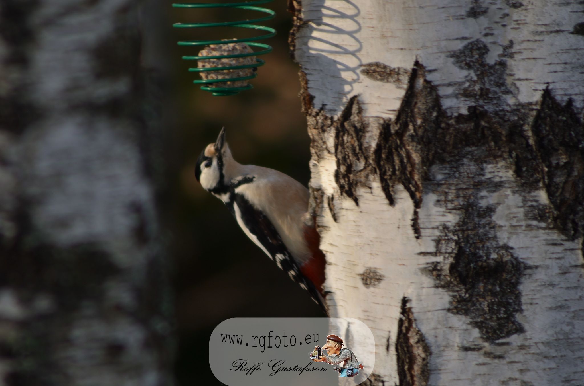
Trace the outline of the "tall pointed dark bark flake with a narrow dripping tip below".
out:
M 375 164 L 387 201 L 395 205 L 393 187 L 400 183 L 414 203 L 412 228 L 416 237 L 420 237 L 416 210 L 422 205 L 422 181 L 439 149 L 436 138 L 445 116 L 436 87 L 425 75 L 424 66 L 416 62 L 397 117 L 381 126 L 375 149 Z

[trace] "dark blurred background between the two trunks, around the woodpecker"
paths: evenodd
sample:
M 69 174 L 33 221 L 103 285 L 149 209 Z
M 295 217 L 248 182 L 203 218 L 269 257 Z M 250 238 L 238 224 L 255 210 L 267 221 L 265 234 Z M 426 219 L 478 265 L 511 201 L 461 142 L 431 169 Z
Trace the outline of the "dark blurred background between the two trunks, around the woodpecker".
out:
M 213 329 L 232 317 L 324 316 L 307 292 L 273 264 L 239 228 L 223 202 L 194 178 L 199 153 L 214 142 L 221 127 L 238 162 L 277 169 L 308 185 L 310 139 L 300 112 L 298 65 L 290 58 L 291 14 L 285 0 L 265 5 L 275 19 L 260 23 L 277 30 L 262 43 L 273 52 L 261 58 L 252 90 L 215 97 L 193 85 L 188 72 L 202 47 L 179 47 L 179 40 L 257 36 L 244 29 L 173 29 L 176 22 L 221 22 L 263 16 L 241 10 L 185 10 L 153 0 L 144 3 L 142 24 L 146 66 L 168 79 L 166 100 L 165 187 L 161 193 L 167 243 L 173 259 L 179 385 L 221 384 L 209 371 L 208 343 Z

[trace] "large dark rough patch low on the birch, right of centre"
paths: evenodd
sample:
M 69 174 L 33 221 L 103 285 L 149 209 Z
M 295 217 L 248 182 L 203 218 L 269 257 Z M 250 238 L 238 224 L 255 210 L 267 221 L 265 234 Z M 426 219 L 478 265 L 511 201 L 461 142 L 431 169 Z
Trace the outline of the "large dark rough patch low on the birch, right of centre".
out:
M 476 191 L 470 194 L 459 208 L 459 222 L 444 226 L 442 236 L 434 240 L 443 261 L 427 271 L 437 287 L 452 293 L 448 311 L 469 317 L 481 338 L 493 342 L 524 331 L 516 314 L 522 312 L 519 285 L 527 265 L 497 240 L 492 220 L 496 208 L 482 206 Z M 453 209 L 460 201 L 453 197 L 447 206 Z

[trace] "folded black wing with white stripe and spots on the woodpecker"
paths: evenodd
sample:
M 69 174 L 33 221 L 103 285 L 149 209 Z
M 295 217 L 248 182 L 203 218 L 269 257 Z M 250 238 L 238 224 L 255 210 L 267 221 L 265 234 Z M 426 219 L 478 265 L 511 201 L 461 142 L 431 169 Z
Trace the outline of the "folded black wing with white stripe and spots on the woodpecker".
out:
M 250 177 L 252 178 L 252 177 Z M 294 282 L 310 293 L 312 299 L 326 312 L 324 299 L 310 280 L 300 271 L 290 251 L 283 243 L 280 234 L 265 213 L 254 208 L 244 195 L 231 192 L 231 213 L 237 223 L 251 240 L 276 262 L 277 266 L 290 276 Z

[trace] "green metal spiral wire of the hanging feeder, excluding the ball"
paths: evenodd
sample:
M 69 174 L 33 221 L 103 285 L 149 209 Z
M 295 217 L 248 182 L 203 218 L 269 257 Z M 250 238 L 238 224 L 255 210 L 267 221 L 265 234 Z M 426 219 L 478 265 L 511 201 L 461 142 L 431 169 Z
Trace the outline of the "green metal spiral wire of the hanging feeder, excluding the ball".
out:
M 273 17 L 276 16 L 276 12 L 274 12 L 271 9 L 255 6 L 256 4 L 268 3 L 270 1 L 272 1 L 272 0 L 256 0 L 256 1 L 249 1 L 249 2 L 222 3 L 222 4 L 211 4 L 211 3 L 175 3 L 175 4 L 173 4 L 172 6 L 175 8 L 238 8 L 238 9 L 246 9 L 246 10 L 255 10 L 258 12 L 263 12 L 263 13 L 268 14 L 267 16 L 259 17 L 258 19 L 251 19 L 251 20 L 248 19 L 248 20 L 242 20 L 239 22 L 175 23 L 175 24 L 173 24 L 172 26 L 175 28 L 241 27 L 241 28 L 249 28 L 249 29 L 255 29 L 255 30 L 263 30 L 263 31 L 268 32 L 267 34 L 264 34 L 262 36 L 247 37 L 247 38 L 241 38 L 241 39 L 179 41 L 178 42 L 179 45 L 210 45 L 210 47 L 212 47 L 211 45 L 215 45 L 215 47 L 219 47 L 219 45 L 223 45 L 224 47 L 230 47 L 230 48 L 235 47 L 234 49 L 231 49 L 231 51 L 238 51 L 238 48 L 233 43 L 245 43 L 246 45 L 249 45 L 251 47 L 263 48 L 263 50 L 256 51 L 256 52 L 253 52 L 253 51 L 252 52 L 242 52 L 242 50 L 239 50 L 239 52 L 242 52 L 242 53 L 220 54 L 220 55 L 183 56 L 182 58 L 184 60 L 203 61 L 203 60 L 208 60 L 208 59 L 257 57 L 258 55 L 264 55 L 264 54 L 268 54 L 269 52 L 272 52 L 272 47 L 270 45 L 267 45 L 264 43 L 255 43 L 255 41 L 263 40 L 263 39 L 275 36 L 276 30 L 274 30 L 273 28 L 270 28 L 270 27 L 258 26 L 256 24 L 253 24 L 253 23 L 259 23 L 259 22 L 263 22 L 265 20 L 273 19 Z M 219 50 L 221 50 L 221 49 L 219 49 Z M 226 48 L 226 50 L 230 51 L 227 48 Z M 251 51 L 251 50 L 247 50 L 247 51 Z M 201 52 L 203 52 L 203 51 L 201 51 Z M 200 54 L 200 52 L 199 52 L 199 54 Z M 235 61 L 237 61 L 237 59 Z M 199 79 L 199 80 L 193 80 L 193 83 L 195 83 L 197 85 L 202 85 L 201 90 L 211 92 L 215 96 L 227 96 L 227 95 L 237 94 L 243 90 L 252 89 L 253 86 L 250 84 L 246 84 L 245 86 L 215 87 L 215 86 L 212 86 L 213 83 L 229 82 L 229 83 L 235 84 L 235 82 L 239 82 L 239 81 L 244 81 L 244 83 L 246 83 L 247 80 L 255 78 L 256 76 L 258 76 L 258 74 L 255 71 L 253 71 L 252 75 L 238 76 L 235 78 L 228 78 L 225 75 L 232 70 L 248 69 L 248 68 L 253 69 L 253 68 L 256 68 L 259 66 L 263 66 L 264 64 L 265 64 L 265 61 L 263 61 L 262 59 L 256 58 L 256 61 L 251 63 L 251 64 L 241 64 L 241 65 L 232 64 L 232 65 L 228 65 L 228 66 L 219 66 L 219 67 L 208 66 L 208 67 L 204 67 L 204 68 L 201 68 L 201 66 L 199 65 L 199 68 L 189 68 L 189 71 L 190 72 L 213 71 L 215 73 L 219 73 L 219 72 L 223 71 L 224 74 L 221 75 L 221 76 L 224 76 L 223 78 Z M 201 76 L 201 78 L 202 77 L 203 76 Z M 209 86 L 207 86 L 207 85 L 209 85 Z

